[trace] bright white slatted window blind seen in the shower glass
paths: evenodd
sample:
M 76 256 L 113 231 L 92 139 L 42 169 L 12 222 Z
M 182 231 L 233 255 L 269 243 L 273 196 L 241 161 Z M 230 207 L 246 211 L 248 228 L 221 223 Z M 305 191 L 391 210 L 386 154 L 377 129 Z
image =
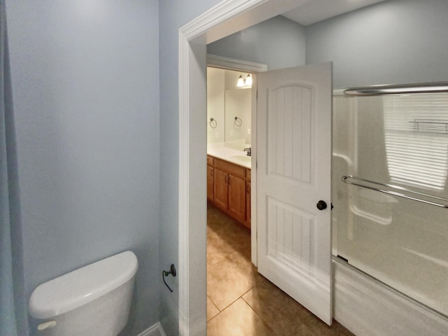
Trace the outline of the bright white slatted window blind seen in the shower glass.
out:
M 384 96 L 391 180 L 443 189 L 448 173 L 448 94 Z

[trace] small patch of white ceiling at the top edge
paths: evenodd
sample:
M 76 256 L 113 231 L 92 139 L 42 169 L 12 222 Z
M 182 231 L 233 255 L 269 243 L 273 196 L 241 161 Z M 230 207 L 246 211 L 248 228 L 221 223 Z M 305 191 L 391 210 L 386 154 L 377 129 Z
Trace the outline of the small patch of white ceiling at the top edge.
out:
M 309 0 L 283 16 L 307 26 L 381 1 L 384 0 Z

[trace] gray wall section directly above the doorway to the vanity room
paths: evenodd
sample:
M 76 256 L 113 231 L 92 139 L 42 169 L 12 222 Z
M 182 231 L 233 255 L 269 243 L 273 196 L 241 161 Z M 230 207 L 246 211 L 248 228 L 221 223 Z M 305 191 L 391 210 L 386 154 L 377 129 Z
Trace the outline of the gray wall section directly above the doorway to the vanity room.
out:
M 304 27 L 283 16 L 207 45 L 207 52 L 267 64 L 268 70 L 305 64 Z

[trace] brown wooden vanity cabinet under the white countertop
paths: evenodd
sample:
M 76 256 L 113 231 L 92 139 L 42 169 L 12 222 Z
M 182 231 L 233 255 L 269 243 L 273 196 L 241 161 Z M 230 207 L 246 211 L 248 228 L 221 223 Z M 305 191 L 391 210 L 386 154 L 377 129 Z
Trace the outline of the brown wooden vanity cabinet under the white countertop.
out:
M 250 228 L 250 192 L 247 194 L 247 176 L 250 180 L 251 169 L 234 165 L 225 160 L 207 156 L 207 195 L 211 194 L 209 176 L 214 176 L 213 200 L 208 199 L 219 209 Z M 211 167 L 211 165 L 213 167 Z M 213 169 L 213 173 L 209 172 Z M 247 173 L 248 172 L 248 173 Z M 249 188 L 250 190 L 250 188 Z

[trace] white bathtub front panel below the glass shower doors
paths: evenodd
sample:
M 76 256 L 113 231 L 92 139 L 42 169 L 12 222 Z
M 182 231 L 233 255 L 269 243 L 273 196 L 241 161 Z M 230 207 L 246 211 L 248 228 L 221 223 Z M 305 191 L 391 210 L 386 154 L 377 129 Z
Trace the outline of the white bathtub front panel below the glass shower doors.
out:
M 448 318 L 333 259 L 334 317 L 359 336 L 446 336 Z

